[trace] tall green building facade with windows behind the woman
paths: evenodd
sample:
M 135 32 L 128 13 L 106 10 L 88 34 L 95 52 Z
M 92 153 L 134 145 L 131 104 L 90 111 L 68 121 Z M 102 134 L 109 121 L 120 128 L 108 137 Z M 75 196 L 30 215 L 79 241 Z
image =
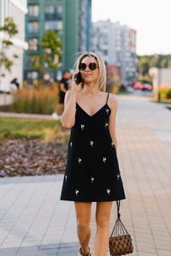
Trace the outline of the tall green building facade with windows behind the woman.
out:
M 73 69 L 76 57 L 90 50 L 91 0 L 28 0 L 24 74 L 26 80 L 38 79 L 38 70 L 31 68 L 32 55 L 39 52 L 38 45 L 44 31 L 54 30 L 62 40 L 62 57 L 59 70 L 46 70 L 56 79 L 60 70 Z

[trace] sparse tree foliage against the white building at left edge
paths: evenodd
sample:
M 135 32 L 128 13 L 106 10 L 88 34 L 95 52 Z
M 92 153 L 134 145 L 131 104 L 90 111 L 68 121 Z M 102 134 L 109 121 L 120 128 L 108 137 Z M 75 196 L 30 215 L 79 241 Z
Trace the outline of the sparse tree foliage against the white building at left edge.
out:
M 0 50 L 0 68 L 4 67 L 6 68 L 9 73 L 11 72 L 11 67 L 14 64 L 13 59 L 9 59 L 7 57 L 7 50 L 9 50 L 9 47 L 11 45 L 14 45 L 11 41 L 11 38 L 15 36 L 16 33 L 18 33 L 18 30 L 16 28 L 15 22 L 12 18 L 5 18 L 3 27 L 0 27 L 0 31 L 3 31 L 5 34 L 3 42 L 2 42 L 2 48 Z M 18 58 L 16 54 L 13 55 L 14 58 Z

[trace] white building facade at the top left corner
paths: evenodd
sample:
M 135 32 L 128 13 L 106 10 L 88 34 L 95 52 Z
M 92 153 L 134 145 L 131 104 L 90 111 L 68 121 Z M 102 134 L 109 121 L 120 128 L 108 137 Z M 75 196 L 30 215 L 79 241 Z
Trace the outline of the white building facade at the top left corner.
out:
M 18 33 L 12 39 L 14 45 L 9 47 L 7 56 L 14 62 L 11 68 L 11 74 L 4 68 L 0 70 L 1 74 L 5 74 L 7 77 L 7 83 L 9 85 L 10 80 L 15 77 L 19 80 L 20 85 L 23 82 L 23 56 L 24 50 L 27 50 L 28 44 L 25 41 L 25 15 L 27 14 L 27 0 L 0 0 L 0 26 L 3 27 L 4 19 L 11 17 L 15 21 L 15 25 L 18 29 Z M 2 46 L 2 40 L 5 38 L 5 33 L 0 32 L 0 48 Z M 18 55 L 18 58 L 14 59 L 13 55 Z

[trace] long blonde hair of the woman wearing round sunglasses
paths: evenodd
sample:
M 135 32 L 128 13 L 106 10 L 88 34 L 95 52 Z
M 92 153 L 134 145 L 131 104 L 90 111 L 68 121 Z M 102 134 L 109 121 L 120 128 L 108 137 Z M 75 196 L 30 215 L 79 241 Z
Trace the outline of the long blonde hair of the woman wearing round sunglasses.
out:
M 94 52 L 85 52 L 80 55 L 80 57 L 77 59 L 75 66 L 76 70 L 79 71 L 79 65 L 82 62 L 82 60 L 85 57 L 94 57 L 97 60 L 97 65 L 99 68 L 99 74 L 97 79 L 98 89 L 99 91 L 105 92 L 106 91 L 106 66 L 103 61 L 103 58 L 100 56 L 97 56 Z M 84 82 L 82 82 L 81 87 L 84 87 Z

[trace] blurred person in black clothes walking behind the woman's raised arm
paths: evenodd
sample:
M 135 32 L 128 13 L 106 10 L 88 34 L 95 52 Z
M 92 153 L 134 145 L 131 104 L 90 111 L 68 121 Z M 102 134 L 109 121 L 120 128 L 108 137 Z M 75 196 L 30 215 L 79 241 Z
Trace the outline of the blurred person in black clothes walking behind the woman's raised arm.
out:
M 54 119 L 58 119 L 60 115 L 62 115 L 63 109 L 64 109 L 64 98 L 65 93 L 69 89 L 69 84 L 71 82 L 71 72 L 69 70 L 66 70 L 62 76 L 62 80 L 59 84 L 59 102 L 56 105 L 56 108 L 54 110 L 54 113 L 52 114 Z

